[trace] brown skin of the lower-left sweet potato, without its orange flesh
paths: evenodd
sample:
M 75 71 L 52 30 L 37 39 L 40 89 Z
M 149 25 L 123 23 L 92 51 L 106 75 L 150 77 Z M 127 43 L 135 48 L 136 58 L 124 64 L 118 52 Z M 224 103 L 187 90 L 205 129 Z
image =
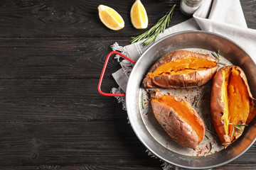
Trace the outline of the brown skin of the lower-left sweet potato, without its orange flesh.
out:
M 151 98 L 158 98 L 161 94 L 158 89 L 156 93 L 151 95 Z M 184 101 L 182 98 L 176 97 L 176 101 Z M 186 102 L 186 101 L 185 101 Z M 187 103 L 187 102 L 186 102 Z M 187 103 L 189 105 L 189 103 Z M 183 147 L 188 147 L 196 149 L 197 145 L 201 142 L 198 138 L 195 130 L 184 121 L 181 116 L 179 116 L 176 111 L 165 103 L 160 103 L 158 101 L 151 101 L 151 106 L 154 112 L 156 120 L 159 122 L 162 128 L 167 132 L 167 134 L 179 145 Z M 203 130 L 203 136 L 205 135 L 205 125 L 203 120 L 198 115 L 196 110 L 191 106 L 191 114 L 196 115 L 198 123 L 201 124 Z

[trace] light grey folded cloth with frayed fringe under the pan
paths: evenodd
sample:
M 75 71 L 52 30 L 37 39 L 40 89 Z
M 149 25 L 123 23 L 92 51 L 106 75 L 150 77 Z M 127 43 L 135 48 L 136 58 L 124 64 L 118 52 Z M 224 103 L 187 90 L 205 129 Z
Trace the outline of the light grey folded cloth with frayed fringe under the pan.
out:
M 156 40 L 183 30 L 205 30 L 230 38 L 240 45 L 256 63 L 256 30 L 247 28 L 239 0 L 203 0 L 201 6 L 193 14 L 193 18 L 167 28 L 164 33 L 158 35 Z M 150 46 L 144 46 L 142 42 L 143 40 L 124 47 L 120 47 L 117 42 L 115 42 L 114 45 L 112 45 L 112 50 L 119 50 L 124 55 L 132 58 L 132 60 L 137 61 L 142 53 Z M 116 57 L 118 58 L 119 56 Z M 119 88 L 112 89 L 112 93 L 126 91 L 129 73 L 132 70 L 133 65 L 127 60 L 123 60 L 120 64 L 122 69 L 112 74 Z M 125 109 L 125 98 L 117 99 L 123 103 L 123 108 Z M 174 168 L 176 167 L 164 163 L 163 169 Z

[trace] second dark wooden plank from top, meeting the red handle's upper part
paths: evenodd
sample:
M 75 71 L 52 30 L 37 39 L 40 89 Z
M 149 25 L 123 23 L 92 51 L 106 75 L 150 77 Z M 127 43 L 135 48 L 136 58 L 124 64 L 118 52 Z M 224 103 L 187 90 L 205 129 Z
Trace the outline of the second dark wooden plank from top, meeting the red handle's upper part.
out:
M 100 78 L 111 45 L 130 38 L 0 38 L 0 79 Z M 106 75 L 120 68 L 114 56 Z

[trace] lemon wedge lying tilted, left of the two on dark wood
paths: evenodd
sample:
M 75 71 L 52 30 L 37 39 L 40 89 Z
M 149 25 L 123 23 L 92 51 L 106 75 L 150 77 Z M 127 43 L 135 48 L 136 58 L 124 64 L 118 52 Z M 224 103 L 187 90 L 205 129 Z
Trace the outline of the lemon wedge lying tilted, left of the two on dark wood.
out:
M 105 5 L 99 5 L 98 11 L 100 21 L 102 21 L 107 28 L 110 28 L 111 30 L 121 30 L 124 28 L 124 20 L 122 16 L 120 16 L 117 11 L 114 11 L 113 8 Z

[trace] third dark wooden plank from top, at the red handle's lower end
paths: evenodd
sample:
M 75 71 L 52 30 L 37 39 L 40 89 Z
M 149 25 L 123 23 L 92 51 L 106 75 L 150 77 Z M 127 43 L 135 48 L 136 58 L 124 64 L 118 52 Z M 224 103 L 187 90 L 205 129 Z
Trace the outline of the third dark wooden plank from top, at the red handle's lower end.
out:
M 116 98 L 101 96 L 98 79 L 0 81 L 0 122 L 70 122 L 127 119 Z M 117 87 L 104 79 L 102 91 Z

